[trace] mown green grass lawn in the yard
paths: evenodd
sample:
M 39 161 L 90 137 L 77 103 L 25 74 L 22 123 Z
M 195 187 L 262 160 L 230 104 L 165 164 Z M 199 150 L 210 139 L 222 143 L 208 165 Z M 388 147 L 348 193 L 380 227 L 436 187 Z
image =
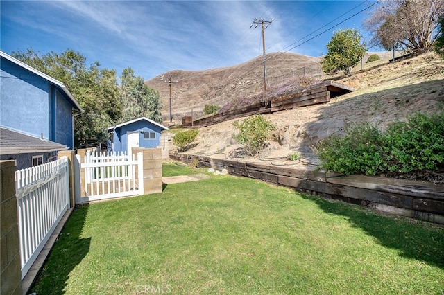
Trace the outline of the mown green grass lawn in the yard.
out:
M 444 229 L 211 177 L 76 208 L 33 292 L 444 294 Z

